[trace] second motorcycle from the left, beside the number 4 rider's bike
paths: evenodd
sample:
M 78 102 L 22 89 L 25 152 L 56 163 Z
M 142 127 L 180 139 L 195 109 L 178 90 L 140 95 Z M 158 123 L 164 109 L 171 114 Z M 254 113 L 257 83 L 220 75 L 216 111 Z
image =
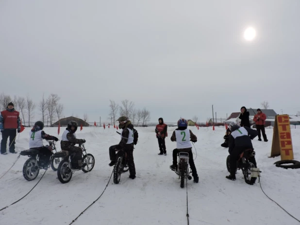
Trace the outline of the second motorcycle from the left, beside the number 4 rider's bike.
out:
M 84 173 L 91 172 L 95 166 L 95 158 L 92 154 L 87 154 L 84 144 L 79 144 L 79 147 L 82 148 L 83 151 L 83 163 L 86 165 L 83 168 L 77 167 L 77 159 L 74 153 L 69 154 L 68 151 L 61 151 L 54 154 L 54 158 L 64 158 L 58 165 L 57 168 L 57 176 L 61 183 L 65 184 L 69 182 L 72 178 L 72 174 L 75 171 L 82 170 Z

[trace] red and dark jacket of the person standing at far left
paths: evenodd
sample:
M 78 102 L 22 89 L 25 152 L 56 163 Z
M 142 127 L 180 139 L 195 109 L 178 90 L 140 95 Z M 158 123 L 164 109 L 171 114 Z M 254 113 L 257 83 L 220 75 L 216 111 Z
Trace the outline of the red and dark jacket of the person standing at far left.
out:
M 20 113 L 16 111 L 14 108 L 2 111 L 0 114 L 0 130 L 3 131 L 4 129 L 17 129 L 18 131 L 21 130 L 20 124 Z

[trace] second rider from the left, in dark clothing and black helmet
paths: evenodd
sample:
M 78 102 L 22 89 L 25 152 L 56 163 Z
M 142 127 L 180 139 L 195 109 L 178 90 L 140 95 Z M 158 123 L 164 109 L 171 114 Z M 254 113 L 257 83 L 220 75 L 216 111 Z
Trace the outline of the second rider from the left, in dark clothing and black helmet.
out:
M 75 144 L 82 144 L 85 143 L 84 139 L 77 139 L 76 138 L 76 130 L 77 130 L 78 124 L 76 121 L 69 121 L 67 124 L 67 128 L 65 132 L 63 133 L 62 140 L 60 142 L 60 147 L 62 150 L 75 153 L 75 160 L 77 159 L 77 169 L 81 169 L 86 166 L 86 163 L 82 162 L 83 158 L 83 150 L 81 147 L 75 146 Z

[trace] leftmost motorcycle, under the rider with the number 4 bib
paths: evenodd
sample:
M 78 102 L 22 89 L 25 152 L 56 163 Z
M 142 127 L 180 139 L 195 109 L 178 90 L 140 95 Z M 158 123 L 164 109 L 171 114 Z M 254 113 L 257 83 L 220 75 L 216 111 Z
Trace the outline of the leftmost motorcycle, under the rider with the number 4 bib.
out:
M 53 171 L 56 171 L 56 166 L 58 161 L 54 161 L 53 158 L 53 150 L 56 153 L 56 147 L 55 142 L 53 140 L 47 140 L 49 142 L 49 145 L 46 145 L 45 147 L 51 151 L 52 155 L 50 156 L 50 162 L 44 161 L 42 158 L 44 156 L 44 153 L 41 152 L 39 149 L 32 148 L 25 151 L 21 151 L 21 156 L 28 156 L 29 159 L 26 160 L 23 166 L 23 176 L 26 180 L 32 181 L 34 180 L 39 171 L 41 169 L 48 170 L 48 168 L 51 166 Z M 58 159 L 59 160 L 59 159 Z

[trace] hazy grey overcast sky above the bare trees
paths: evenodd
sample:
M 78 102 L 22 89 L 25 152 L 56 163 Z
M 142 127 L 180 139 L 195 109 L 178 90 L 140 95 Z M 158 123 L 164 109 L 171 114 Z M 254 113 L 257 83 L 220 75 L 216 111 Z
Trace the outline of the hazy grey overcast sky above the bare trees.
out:
M 89 121 L 108 117 L 109 99 L 148 108 L 154 122 L 205 121 L 212 104 L 225 118 L 263 101 L 296 114 L 299 9 L 299 0 L 1 0 L 0 92 L 36 103 L 55 93 L 66 117 Z

